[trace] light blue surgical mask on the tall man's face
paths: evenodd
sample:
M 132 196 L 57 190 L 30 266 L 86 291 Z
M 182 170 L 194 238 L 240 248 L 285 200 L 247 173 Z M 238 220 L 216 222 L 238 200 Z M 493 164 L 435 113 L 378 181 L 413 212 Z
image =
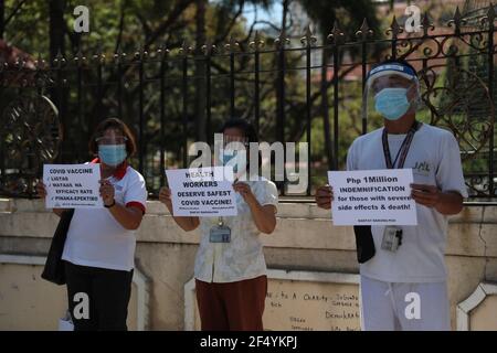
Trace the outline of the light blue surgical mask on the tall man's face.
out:
M 410 107 L 406 88 L 383 88 L 374 96 L 374 108 L 388 120 L 400 119 Z

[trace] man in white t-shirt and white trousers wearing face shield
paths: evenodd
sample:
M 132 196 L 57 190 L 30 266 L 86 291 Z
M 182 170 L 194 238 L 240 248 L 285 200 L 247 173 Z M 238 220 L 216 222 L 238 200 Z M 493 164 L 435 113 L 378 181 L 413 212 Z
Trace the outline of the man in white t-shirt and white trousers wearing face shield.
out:
M 419 104 L 416 73 L 405 61 L 381 63 L 368 74 L 362 113 L 366 118 L 381 115 L 384 127 L 353 141 L 347 169 L 412 169 L 419 225 L 355 228 L 363 330 L 451 329 L 447 216 L 461 212 L 467 191 L 456 139 L 416 121 Z M 330 208 L 332 200 L 330 186 L 319 188 L 318 206 Z M 389 242 L 392 235 L 399 242 Z

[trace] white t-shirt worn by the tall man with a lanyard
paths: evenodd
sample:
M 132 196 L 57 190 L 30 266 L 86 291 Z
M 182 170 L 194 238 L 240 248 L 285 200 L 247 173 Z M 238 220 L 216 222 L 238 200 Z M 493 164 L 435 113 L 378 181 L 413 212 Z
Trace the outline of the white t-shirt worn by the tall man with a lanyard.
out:
M 347 170 L 387 169 L 381 136 L 383 128 L 357 138 L 347 156 Z M 405 135 L 388 135 L 395 158 Z M 446 130 L 423 124 L 415 132 L 404 168 L 412 168 L 414 183 L 455 191 L 467 197 L 459 147 Z M 438 282 L 446 278 L 447 216 L 416 203 L 417 226 L 402 226 L 402 245 L 395 253 L 381 249 L 384 226 L 372 226 L 376 255 L 360 265 L 363 276 L 388 282 Z

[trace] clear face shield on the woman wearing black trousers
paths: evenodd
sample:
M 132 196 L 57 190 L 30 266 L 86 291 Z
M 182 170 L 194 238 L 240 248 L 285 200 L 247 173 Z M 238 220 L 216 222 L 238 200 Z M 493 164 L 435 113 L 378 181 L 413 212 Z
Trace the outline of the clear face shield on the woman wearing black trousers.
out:
M 107 129 L 95 141 L 98 147 L 98 159 L 102 163 L 115 168 L 126 160 L 127 138 L 121 131 Z

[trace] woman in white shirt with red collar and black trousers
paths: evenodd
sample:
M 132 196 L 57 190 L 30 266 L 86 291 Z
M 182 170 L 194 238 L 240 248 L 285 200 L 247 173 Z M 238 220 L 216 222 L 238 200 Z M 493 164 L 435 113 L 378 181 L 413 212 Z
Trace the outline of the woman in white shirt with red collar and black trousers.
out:
M 135 151 L 129 128 L 115 118 L 102 121 L 89 141 L 89 152 L 97 157 L 91 163 L 101 164 L 105 208 L 76 208 L 64 245 L 62 259 L 75 331 L 127 330 L 135 231 L 147 201 L 144 178 L 126 162 Z M 43 183 L 36 189 L 40 196 L 46 196 Z M 53 210 L 59 216 L 64 211 Z

